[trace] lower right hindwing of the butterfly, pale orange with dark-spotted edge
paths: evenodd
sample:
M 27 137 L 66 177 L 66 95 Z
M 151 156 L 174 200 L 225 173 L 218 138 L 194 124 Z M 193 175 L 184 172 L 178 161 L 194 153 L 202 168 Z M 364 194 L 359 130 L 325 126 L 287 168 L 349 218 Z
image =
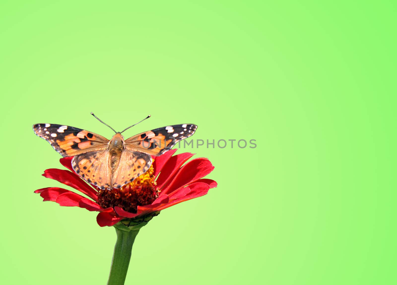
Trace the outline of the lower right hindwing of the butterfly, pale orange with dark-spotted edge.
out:
M 113 173 L 113 187 L 120 188 L 145 173 L 152 164 L 152 157 L 143 152 L 123 150 L 119 164 Z

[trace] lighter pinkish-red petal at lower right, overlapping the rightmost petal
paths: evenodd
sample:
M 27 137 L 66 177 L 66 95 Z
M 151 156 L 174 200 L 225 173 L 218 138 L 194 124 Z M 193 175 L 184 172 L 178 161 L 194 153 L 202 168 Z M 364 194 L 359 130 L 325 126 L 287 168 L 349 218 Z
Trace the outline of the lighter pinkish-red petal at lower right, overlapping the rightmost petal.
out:
M 197 198 L 200 196 L 203 196 L 208 193 L 208 190 L 210 189 L 209 185 L 207 183 L 203 182 L 196 182 L 188 187 L 181 188 L 177 191 L 175 191 L 171 196 L 170 196 L 170 202 L 164 206 L 158 207 L 156 211 L 163 210 L 165 208 L 171 207 L 175 204 L 178 204 L 183 201 L 187 201 L 193 198 Z M 179 193 L 181 191 L 181 193 Z

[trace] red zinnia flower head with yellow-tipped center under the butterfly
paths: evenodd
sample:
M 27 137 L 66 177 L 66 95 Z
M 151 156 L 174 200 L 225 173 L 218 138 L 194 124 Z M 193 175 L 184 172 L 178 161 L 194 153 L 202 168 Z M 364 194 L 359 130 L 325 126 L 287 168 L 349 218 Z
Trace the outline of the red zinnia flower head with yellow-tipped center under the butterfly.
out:
M 43 176 L 73 187 L 89 198 L 59 187 L 47 187 L 35 193 L 40 193 L 44 201 L 99 212 L 96 221 L 101 227 L 124 219 L 154 216 L 160 210 L 203 196 L 217 186 L 216 181 L 202 178 L 214 169 L 207 158 L 196 158 L 183 165 L 194 154 L 185 152 L 172 156 L 175 151 L 153 157 L 154 162 L 146 173 L 121 189 L 112 190 L 100 190 L 86 183 L 73 171 L 73 157 L 61 158 L 61 164 L 70 171 L 46 169 Z

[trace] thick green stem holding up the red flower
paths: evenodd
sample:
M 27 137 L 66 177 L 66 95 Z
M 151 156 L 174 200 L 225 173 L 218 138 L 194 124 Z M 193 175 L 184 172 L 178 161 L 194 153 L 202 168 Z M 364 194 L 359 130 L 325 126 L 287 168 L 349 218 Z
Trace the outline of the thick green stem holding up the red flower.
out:
M 116 245 L 110 266 L 108 285 L 123 285 L 127 275 L 129 260 L 131 259 L 132 245 L 139 229 L 135 231 L 125 231 L 115 227 L 117 234 Z

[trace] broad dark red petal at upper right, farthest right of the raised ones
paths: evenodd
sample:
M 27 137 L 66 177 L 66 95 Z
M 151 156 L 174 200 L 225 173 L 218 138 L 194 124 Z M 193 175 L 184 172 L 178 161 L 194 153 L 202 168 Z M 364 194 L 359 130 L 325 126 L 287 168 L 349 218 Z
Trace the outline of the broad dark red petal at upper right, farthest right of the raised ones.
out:
M 208 158 L 196 158 L 189 161 L 187 164 L 182 166 L 181 170 L 175 176 L 171 184 L 164 189 L 164 194 L 170 194 L 173 191 L 204 177 L 214 169 L 212 163 Z

